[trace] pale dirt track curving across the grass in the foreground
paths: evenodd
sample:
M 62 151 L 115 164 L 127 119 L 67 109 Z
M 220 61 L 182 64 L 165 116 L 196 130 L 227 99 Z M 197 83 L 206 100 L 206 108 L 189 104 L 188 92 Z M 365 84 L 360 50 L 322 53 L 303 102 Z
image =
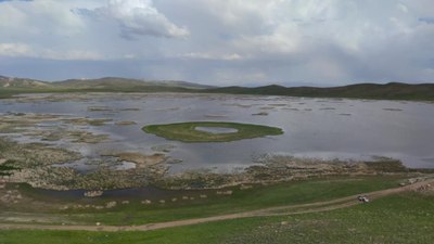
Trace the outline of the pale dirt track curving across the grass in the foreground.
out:
M 369 196 L 370 200 L 375 200 L 382 196 L 397 194 L 405 191 L 414 191 L 426 184 L 434 184 L 434 180 L 431 179 L 406 187 L 363 193 L 362 195 Z M 82 230 L 82 231 L 150 231 L 150 230 L 158 230 L 171 227 L 183 227 L 183 226 L 191 226 L 204 222 L 240 219 L 247 217 L 266 217 L 266 216 L 278 216 L 278 215 L 296 215 L 296 214 L 328 211 L 328 210 L 354 206 L 357 204 L 360 204 L 360 202 L 357 200 L 357 195 L 352 195 L 347 197 L 342 197 L 326 202 L 317 202 L 311 204 L 269 207 L 269 208 L 263 208 L 258 210 L 244 211 L 238 214 L 176 220 L 169 222 L 149 223 L 143 226 L 122 226 L 122 227 L 120 226 L 38 226 L 38 224 L 20 224 L 20 223 L 0 223 L 0 230 L 28 229 L 28 230 Z

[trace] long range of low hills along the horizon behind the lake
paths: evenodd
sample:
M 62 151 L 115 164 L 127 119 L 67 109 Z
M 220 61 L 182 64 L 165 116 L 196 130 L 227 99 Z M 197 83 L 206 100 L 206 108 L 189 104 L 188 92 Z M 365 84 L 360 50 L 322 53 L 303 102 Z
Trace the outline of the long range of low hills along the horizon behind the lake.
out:
M 307 98 L 349 98 L 375 100 L 414 100 L 434 101 L 434 84 L 401 84 L 390 82 L 357 84 L 342 87 L 282 87 L 270 85 L 264 87 L 210 87 L 186 81 L 174 80 L 140 80 L 118 77 L 100 79 L 68 79 L 56 82 L 46 82 L 26 78 L 0 76 L 0 98 L 24 92 L 196 92 L 196 93 L 230 93 L 230 94 L 263 94 L 290 95 Z

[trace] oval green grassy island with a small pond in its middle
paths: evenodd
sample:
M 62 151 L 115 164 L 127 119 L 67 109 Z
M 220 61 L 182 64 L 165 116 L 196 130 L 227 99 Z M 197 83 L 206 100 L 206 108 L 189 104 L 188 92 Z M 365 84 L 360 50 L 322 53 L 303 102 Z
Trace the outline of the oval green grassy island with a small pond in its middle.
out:
M 210 133 L 199 131 L 195 129 L 196 127 L 233 128 L 238 131 L 232 133 Z M 149 125 L 143 127 L 143 131 L 154 133 L 165 139 L 182 142 L 229 142 L 283 133 L 282 129 L 276 127 L 226 121 L 191 121 Z

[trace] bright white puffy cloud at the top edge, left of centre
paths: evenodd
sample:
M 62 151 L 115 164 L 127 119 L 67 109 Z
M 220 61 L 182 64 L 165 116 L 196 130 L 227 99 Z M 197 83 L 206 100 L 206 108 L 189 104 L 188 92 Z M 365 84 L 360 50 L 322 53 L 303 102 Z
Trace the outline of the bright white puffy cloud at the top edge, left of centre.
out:
M 128 39 L 137 36 L 184 38 L 190 35 L 186 27 L 175 25 L 159 13 L 151 0 L 110 0 L 106 7 L 94 12 L 117 21 L 120 35 Z

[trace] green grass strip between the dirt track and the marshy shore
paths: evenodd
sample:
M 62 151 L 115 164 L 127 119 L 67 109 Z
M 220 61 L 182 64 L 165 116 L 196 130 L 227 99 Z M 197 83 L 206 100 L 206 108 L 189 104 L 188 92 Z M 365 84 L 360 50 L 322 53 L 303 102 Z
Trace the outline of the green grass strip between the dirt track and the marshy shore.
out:
M 200 218 L 230 213 L 260 209 L 265 207 L 312 203 L 327 201 L 348 195 L 360 194 L 387 188 L 395 188 L 401 178 L 399 177 L 362 177 L 362 178 L 331 178 L 285 182 L 273 185 L 257 185 L 248 190 L 233 189 L 233 194 L 228 196 L 216 195 L 216 191 L 209 191 L 207 198 L 200 198 L 199 194 L 190 191 L 188 194 L 180 191 L 178 201 L 171 203 L 166 198 L 166 204 L 153 205 L 140 204 L 139 197 L 130 200 L 128 205 L 118 205 L 113 209 L 103 210 L 49 210 L 13 208 L 4 209 L 20 213 L 37 211 L 41 214 L 63 216 L 69 221 L 91 223 L 99 221 L 104 224 L 143 224 L 179 219 Z M 22 188 L 21 188 L 22 189 Z M 23 194 L 43 201 L 31 193 L 30 189 L 22 191 Z M 33 194 L 33 195 L 31 195 Z M 194 201 L 182 201 L 181 195 L 194 196 Z M 54 202 L 56 200 L 48 198 Z M 58 200 L 59 201 L 59 200 Z M 99 204 L 101 200 L 87 198 L 79 204 Z M 112 201 L 112 200 L 104 200 Z M 72 201 L 69 201 L 72 202 Z M 43 205 L 42 205 L 43 206 Z M 24 207 L 31 207 L 24 206 Z

